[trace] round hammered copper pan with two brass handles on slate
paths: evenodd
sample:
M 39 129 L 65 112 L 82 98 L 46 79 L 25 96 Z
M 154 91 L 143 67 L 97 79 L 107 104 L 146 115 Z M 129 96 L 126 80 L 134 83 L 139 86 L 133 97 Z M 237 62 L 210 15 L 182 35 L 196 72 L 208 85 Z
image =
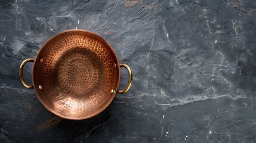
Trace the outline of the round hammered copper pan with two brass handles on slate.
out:
M 23 67 L 33 61 L 32 86 L 23 79 Z M 129 73 L 128 85 L 118 91 L 120 67 Z M 85 30 L 66 30 L 42 45 L 35 59 L 20 65 L 19 77 L 34 88 L 42 105 L 64 119 L 88 119 L 103 111 L 116 92 L 124 94 L 132 71 L 119 64 L 113 48 L 100 36 Z

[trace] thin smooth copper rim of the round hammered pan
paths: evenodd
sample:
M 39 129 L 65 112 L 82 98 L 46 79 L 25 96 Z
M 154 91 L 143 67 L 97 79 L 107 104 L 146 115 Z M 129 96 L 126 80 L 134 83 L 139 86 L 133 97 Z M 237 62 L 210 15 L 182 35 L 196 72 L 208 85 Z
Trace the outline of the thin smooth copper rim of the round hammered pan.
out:
M 51 41 L 53 38 L 55 38 L 56 36 L 61 35 L 62 33 L 66 33 L 66 32 L 76 32 L 76 31 L 79 31 L 79 32 L 86 32 L 86 33 L 90 33 L 90 34 L 92 34 L 92 35 L 94 35 L 94 36 L 97 36 L 98 38 L 100 38 L 103 42 L 105 42 L 105 43 L 109 46 L 109 48 L 111 49 L 111 51 L 112 51 L 113 54 L 115 55 L 116 62 L 117 62 L 116 64 L 118 65 L 118 66 L 117 66 L 117 67 L 118 67 L 118 83 L 117 83 L 117 85 L 116 85 L 116 87 L 115 87 L 115 91 L 117 91 L 117 89 L 118 89 L 118 86 L 119 86 L 119 83 L 120 83 L 120 76 L 121 76 L 121 71 L 120 71 L 120 66 L 119 66 L 119 65 L 120 65 L 120 64 L 119 64 L 119 60 L 118 60 L 118 57 L 117 57 L 117 55 L 116 55 L 114 49 L 112 48 L 112 46 L 109 45 L 109 43 L 108 43 L 104 38 L 102 38 L 101 36 L 97 35 L 96 33 L 90 32 L 90 31 L 88 31 L 88 30 L 82 30 L 82 29 L 70 29 L 70 30 L 64 30 L 64 31 L 62 31 L 62 32 L 58 32 L 58 33 L 55 34 L 54 36 L 51 36 L 51 38 L 49 38 L 49 39 L 41 46 L 41 48 L 39 49 L 38 53 L 36 54 L 36 57 L 34 58 L 34 59 L 35 59 L 35 62 L 33 62 L 33 66 L 32 66 L 32 85 L 33 85 L 34 90 L 35 90 L 35 92 L 36 92 L 36 97 L 38 97 L 38 100 L 41 102 L 41 104 L 42 104 L 45 108 L 47 108 L 48 111 L 50 111 L 51 113 L 57 115 L 58 117 L 61 117 L 61 118 L 63 118 L 63 119 L 68 119 L 68 120 L 84 120 L 84 119 L 89 119 L 90 117 L 96 116 L 97 114 L 101 113 L 103 110 L 105 110 L 105 109 L 109 106 L 110 102 L 113 101 L 113 98 L 114 98 L 115 95 L 116 95 L 116 92 L 113 93 L 112 96 L 109 98 L 109 100 L 107 100 L 106 102 L 104 102 L 104 104 L 102 104 L 102 106 L 100 107 L 100 110 L 97 110 L 97 111 L 95 111 L 95 113 L 92 113 L 92 114 L 90 114 L 90 115 L 88 115 L 88 116 L 86 116 L 86 117 L 65 117 L 65 116 L 61 116 L 61 114 L 59 114 L 58 112 L 56 112 L 56 111 L 54 111 L 54 110 L 51 110 L 51 109 L 47 106 L 47 104 L 45 104 L 45 103 L 41 100 L 41 98 L 39 97 L 39 95 L 38 95 L 38 88 L 35 86 L 35 82 L 34 82 L 34 76 L 36 76 L 37 74 L 34 73 L 34 70 L 33 70 L 34 67 L 35 67 L 35 65 L 36 65 L 36 63 L 38 63 L 38 60 L 39 60 L 38 55 L 40 54 L 41 50 L 45 47 L 45 45 L 47 45 L 47 43 L 50 42 L 50 41 Z

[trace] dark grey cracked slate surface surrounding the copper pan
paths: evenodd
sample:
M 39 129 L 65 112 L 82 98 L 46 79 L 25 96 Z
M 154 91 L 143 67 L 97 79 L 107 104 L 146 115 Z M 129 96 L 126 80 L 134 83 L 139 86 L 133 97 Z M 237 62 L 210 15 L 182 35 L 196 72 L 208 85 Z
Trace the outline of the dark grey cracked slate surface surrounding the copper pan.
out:
M 256 142 L 255 18 L 254 0 L 1 0 L 0 142 Z M 127 94 L 79 121 L 48 112 L 18 80 L 21 61 L 76 28 L 134 73 Z

